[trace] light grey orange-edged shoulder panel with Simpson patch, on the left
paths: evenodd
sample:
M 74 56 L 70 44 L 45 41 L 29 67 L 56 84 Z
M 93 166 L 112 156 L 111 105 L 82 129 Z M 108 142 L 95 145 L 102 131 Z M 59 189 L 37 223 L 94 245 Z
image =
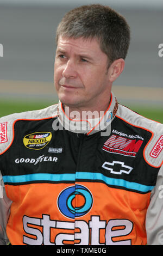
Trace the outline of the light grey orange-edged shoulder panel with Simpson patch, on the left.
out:
M 0 118 L 0 155 L 11 145 L 14 138 L 14 125 L 19 120 L 43 120 L 57 116 L 58 104 L 35 111 L 6 115 Z

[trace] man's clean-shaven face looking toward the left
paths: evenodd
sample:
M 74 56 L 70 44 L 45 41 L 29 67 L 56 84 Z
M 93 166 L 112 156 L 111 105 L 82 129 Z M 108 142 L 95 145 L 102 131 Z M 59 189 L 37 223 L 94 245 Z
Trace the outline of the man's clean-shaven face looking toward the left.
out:
M 108 57 L 96 39 L 59 36 L 54 84 L 59 100 L 73 108 L 96 109 L 110 97 Z M 105 110 L 105 109 L 103 109 Z

